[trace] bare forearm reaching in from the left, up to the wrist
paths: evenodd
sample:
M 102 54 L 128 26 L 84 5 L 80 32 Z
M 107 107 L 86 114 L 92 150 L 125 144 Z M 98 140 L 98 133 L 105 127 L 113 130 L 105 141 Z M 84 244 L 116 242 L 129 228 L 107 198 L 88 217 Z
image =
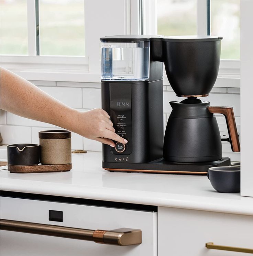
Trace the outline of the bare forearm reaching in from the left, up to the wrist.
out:
M 13 93 L 15 92 L 15 93 Z M 1 109 L 73 130 L 78 111 L 46 94 L 32 83 L 1 68 Z

